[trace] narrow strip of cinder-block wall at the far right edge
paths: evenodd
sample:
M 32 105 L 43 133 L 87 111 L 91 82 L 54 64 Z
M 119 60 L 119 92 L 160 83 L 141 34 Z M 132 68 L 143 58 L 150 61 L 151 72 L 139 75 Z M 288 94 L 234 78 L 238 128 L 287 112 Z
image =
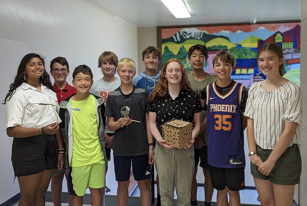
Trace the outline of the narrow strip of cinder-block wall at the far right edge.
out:
M 295 200 L 301 206 L 307 205 L 307 0 L 302 0 L 301 3 L 301 91 L 303 105 L 303 125 L 301 126 L 301 158 L 302 158 L 302 173 L 301 182 L 296 191 Z

